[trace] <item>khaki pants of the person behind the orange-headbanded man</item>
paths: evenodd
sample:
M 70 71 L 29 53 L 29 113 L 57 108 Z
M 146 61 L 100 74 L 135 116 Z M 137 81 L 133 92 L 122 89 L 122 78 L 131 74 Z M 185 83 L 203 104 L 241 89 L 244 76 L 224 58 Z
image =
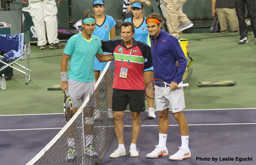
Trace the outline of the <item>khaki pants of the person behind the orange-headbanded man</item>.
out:
M 167 25 L 169 33 L 174 37 L 179 37 L 178 22 L 180 25 L 188 22 L 186 14 L 184 14 L 179 8 L 185 4 L 187 0 L 164 0 L 164 6 L 166 7 Z

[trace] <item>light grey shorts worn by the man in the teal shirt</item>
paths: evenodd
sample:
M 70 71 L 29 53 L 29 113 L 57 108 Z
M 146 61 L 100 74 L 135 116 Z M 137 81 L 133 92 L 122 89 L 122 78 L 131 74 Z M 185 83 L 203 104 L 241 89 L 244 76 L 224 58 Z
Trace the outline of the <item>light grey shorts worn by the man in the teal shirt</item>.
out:
M 84 103 L 84 100 L 90 94 L 94 85 L 95 85 L 95 81 L 84 83 L 84 82 L 78 82 L 73 79 L 68 79 L 68 95 L 71 98 L 73 108 L 76 108 L 79 106 L 80 100 L 82 104 Z

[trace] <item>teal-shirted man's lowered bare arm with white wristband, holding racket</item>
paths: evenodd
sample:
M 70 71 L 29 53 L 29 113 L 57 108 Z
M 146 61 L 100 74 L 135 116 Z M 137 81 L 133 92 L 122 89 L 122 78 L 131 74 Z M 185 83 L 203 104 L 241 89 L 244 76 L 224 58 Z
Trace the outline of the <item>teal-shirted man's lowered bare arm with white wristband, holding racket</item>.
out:
M 67 83 L 67 64 L 68 59 L 70 58 L 69 55 L 63 53 L 61 61 L 60 61 L 60 73 L 61 73 L 61 85 L 60 88 L 64 93 L 64 90 L 68 92 L 68 83 Z

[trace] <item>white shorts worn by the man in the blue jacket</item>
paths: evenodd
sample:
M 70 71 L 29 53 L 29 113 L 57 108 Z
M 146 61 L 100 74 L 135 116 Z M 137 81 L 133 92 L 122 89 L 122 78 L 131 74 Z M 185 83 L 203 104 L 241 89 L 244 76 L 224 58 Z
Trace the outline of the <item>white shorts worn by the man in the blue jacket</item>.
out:
M 180 84 L 183 84 L 182 82 Z M 155 86 L 155 88 L 163 88 Z M 169 87 L 167 87 L 169 88 Z M 185 108 L 183 87 L 167 91 L 162 97 L 156 98 L 156 110 L 163 111 L 171 108 L 172 113 L 180 112 Z

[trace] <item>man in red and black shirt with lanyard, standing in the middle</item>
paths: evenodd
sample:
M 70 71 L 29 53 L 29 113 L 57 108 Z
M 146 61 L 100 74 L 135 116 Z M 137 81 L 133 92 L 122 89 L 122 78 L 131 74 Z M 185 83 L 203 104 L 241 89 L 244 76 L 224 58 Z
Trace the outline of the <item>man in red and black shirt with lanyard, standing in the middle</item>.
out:
M 124 111 L 129 103 L 132 116 L 132 143 L 130 155 L 139 156 L 136 141 L 140 133 L 140 112 L 145 111 L 143 70 L 152 66 L 150 47 L 134 40 L 134 26 L 124 22 L 120 28 L 122 39 L 102 40 L 102 50 L 115 57 L 115 77 L 113 83 L 112 110 L 118 148 L 110 154 L 117 158 L 126 154 L 124 148 Z M 148 59 L 144 64 L 144 60 Z

